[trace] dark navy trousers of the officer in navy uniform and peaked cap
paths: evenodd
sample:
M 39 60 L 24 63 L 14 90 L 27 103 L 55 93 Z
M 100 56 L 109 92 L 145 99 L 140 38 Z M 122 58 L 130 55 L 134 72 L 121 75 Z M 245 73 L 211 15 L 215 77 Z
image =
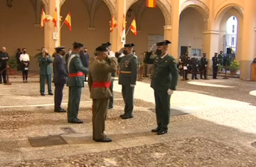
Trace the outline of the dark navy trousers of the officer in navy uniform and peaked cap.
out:
M 64 84 L 54 84 L 54 111 L 60 111 L 61 109 L 61 102 L 63 98 L 63 88 Z

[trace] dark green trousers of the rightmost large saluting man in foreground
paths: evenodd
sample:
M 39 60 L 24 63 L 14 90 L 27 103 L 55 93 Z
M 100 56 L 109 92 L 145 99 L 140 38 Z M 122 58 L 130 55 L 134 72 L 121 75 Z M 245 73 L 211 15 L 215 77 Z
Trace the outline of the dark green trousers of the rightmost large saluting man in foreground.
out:
M 157 129 L 167 130 L 170 123 L 170 95 L 166 91 L 154 91 Z

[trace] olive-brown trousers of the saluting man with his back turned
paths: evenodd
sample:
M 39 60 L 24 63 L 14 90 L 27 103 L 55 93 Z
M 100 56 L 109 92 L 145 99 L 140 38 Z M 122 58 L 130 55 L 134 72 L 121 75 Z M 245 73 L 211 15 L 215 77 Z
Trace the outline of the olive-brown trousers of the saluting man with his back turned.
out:
M 106 137 L 104 130 L 109 101 L 109 98 L 93 99 L 92 101 L 93 139 L 101 140 Z

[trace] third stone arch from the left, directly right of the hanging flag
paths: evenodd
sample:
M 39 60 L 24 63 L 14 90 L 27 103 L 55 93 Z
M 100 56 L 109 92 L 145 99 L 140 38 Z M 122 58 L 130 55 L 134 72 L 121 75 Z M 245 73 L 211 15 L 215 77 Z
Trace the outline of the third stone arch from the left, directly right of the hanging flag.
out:
M 207 5 L 204 4 L 204 2 L 198 1 L 198 0 L 187 0 L 181 4 L 180 7 L 180 14 L 186 10 L 187 8 L 195 8 L 199 13 L 202 14 L 202 17 L 204 19 L 204 29 L 207 29 L 207 21 L 209 17 L 209 8 Z

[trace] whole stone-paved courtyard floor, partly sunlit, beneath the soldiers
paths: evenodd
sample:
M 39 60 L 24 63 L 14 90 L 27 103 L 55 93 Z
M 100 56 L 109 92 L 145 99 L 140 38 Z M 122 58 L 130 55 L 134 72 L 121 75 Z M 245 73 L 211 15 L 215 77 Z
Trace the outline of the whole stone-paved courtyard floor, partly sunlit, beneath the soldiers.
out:
M 123 101 L 114 82 L 115 106 L 108 112 L 108 144 L 92 141 L 92 111 L 87 85 L 79 117 L 84 124 L 66 122 L 52 111 L 53 97 L 39 94 L 39 78 L 29 83 L 11 76 L 0 85 L 0 166 L 256 166 L 251 146 L 256 133 L 254 82 L 228 80 L 179 81 L 171 106 L 193 114 L 171 118 L 169 133 L 157 136 L 154 94 L 149 79 L 137 82 L 134 118 L 121 120 Z M 228 86 L 228 87 L 223 87 Z M 54 89 L 54 87 L 52 87 Z M 63 107 L 67 106 L 67 88 Z M 61 127 L 76 133 L 66 135 Z M 31 147 L 28 137 L 61 135 L 67 145 Z

